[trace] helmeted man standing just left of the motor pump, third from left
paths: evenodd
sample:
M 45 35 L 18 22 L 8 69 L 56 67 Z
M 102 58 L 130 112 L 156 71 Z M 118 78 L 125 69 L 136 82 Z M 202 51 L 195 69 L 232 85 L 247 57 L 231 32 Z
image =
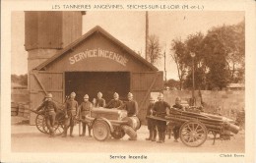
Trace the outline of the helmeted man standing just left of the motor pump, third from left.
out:
M 91 136 L 91 127 L 89 127 L 88 123 L 86 123 L 85 120 L 86 120 L 86 115 L 88 115 L 90 113 L 92 108 L 93 108 L 93 104 L 89 101 L 89 95 L 86 94 L 84 96 L 84 101 L 79 106 L 78 114 L 77 114 L 77 115 L 80 115 L 82 120 L 84 121 L 83 122 L 83 133 L 80 136 L 86 136 L 87 126 L 88 126 L 89 136 Z

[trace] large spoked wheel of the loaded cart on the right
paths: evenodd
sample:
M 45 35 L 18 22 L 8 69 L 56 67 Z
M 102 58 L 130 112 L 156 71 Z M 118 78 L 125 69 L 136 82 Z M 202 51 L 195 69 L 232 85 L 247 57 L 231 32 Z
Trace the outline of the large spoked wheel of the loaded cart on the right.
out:
M 180 127 L 179 136 L 185 145 L 197 147 L 206 141 L 207 129 L 198 121 L 189 121 Z

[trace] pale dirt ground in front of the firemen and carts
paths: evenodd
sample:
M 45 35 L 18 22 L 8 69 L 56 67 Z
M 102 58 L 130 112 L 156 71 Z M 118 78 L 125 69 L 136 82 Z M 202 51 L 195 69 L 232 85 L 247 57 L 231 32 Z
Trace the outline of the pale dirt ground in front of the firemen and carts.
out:
M 54 138 L 37 131 L 35 126 L 15 125 L 11 128 L 12 152 L 210 152 L 210 153 L 243 153 L 245 151 L 244 131 L 232 136 L 231 140 L 217 139 L 213 145 L 213 136 L 209 135 L 200 147 L 188 147 L 180 140 L 174 142 L 173 137 L 166 136 L 164 143 L 147 141 L 148 129 L 146 126 L 137 131 L 138 140 L 127 140 L 129 136 L 121 139 L 109 138 L 97 141 L 94 137 L 78 136 L 78 125 L 74 129 L 75 137 Z M 88 134 L 88 133 L 87 133 Z M 54 146 L 54 147 L 53 147 Z

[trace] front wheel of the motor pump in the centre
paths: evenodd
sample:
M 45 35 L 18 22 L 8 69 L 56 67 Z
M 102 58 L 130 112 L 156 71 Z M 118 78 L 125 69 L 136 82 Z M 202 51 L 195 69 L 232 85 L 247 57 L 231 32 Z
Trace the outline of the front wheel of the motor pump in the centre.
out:
M 103 141 L 108 138 L 110 134 L 109 126 L 106 122 L 102 120 L 96 120 L 93 125 L 93 133 L 96 140 Z

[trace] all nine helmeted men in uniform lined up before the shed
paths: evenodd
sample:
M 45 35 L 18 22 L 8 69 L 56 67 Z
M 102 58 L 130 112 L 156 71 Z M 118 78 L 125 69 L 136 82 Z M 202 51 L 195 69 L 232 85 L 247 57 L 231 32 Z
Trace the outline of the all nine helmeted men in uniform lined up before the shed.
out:
M 88 126 L 89 136 L 91 135 L 91 127 L 89 123 L 86 121 L 86 115 L 90 114 L 90 111 L 93 107 L 103 107 L 103 108 L 115 108 L 115 109 L 124 109 L 127 111 L 127 116 L 132 117 L 138 114 L 138 103 L 133 99 L 133 94 L 131 92 L 128 93 L 127 98 L 128 101 L 123 102 L 119 99 L 119 94 L 114 93 L 113 99 L 111 99 L 107 104 L 105 100 L 102 98 L 102 93 L 97 93 L 97 98 L 93 100 L 93 103 L 89 101 L 89 95 L 86 94 L 84 96 L 84 101 L 79 105 L 75 100 L 76 93 L 72 92 L 70 94 L 70 98 L 65 102 L 64 107 L 64 115 L 65 115 L 65 123 L 64 123 L 64 133 L 63 137 L 67 136 L 68 129 L 70 129 L 70 136 L 73 137 L 73 129 L 75 126 L 76 119 L 82 119 L 83 124 L 83 132 L 80 136 L 86 136 L 86 128 Z M 160 93 L 158 96 L 157 102 L 154 99 L 150 98 L 150 104 L 147 111 L 147 116 L 156 116 L 160 118 L 164 118 L 168 113 L 169 109 L 171 109 L 170 105 L 163 101 L 163 94 Z M 182 105 L 180 104 L 181 100 L 179 97 L 175 99 L 175 104 L 172 106 L 174 109 L 183 110 Z M 52 101 L 52 94 L 48 93 L 45 96 L 43 103 L 36 109 L 39 111 L 44 109 L 44 116 L 47 128 L 49 129 L 50 136 L 55 136 L 54 132 L 54 123 L 55 116 L 57 112 L 57 106 Z M 159 134 L 159 140 L 157 142 L 162 143 L 165 140 L 165 131 L 166 131 L 166 122 L 160 120 L 154 120 L 151 118 L 147 118 L 148 120 L 148 129 L 150 132 L 150 136 L 146 138 L 146 140 L 156 141 L 157 131 Z M 179 137 L 179 127 L 175 126 L 173 128 L 174 141 L 177 142 Z

